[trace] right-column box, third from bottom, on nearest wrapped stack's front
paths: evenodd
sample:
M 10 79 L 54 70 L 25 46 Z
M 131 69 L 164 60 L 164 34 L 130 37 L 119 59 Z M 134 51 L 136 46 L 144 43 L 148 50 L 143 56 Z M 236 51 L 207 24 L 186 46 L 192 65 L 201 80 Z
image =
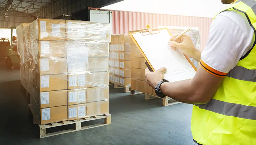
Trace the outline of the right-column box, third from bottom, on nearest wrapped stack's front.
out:
M 87 87 L 108 86 L 108 72 L 93 72 L 87 74 Z

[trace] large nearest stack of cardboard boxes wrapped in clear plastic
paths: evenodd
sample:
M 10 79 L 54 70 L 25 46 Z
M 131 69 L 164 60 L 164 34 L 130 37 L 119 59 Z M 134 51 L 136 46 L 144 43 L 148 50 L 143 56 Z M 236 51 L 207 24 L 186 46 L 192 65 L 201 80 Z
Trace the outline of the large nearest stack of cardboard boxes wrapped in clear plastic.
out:
M 27 89 L 40 124 L 108 113 L 110 38 L 110 24 L 30 23 Z

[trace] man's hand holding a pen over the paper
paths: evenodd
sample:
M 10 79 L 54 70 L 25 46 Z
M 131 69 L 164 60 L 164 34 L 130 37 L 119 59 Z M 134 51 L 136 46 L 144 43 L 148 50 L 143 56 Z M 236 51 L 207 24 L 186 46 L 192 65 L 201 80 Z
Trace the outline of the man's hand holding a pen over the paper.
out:
M 178 48 L 181 50 L 182 53 L 190 58 L 194 58 L 197 62 L 199 62 L 201 59 L 201 51 L 196 49 L 190 36 L 182 35 L 176 41 L 172 41 L 177 36 L 178 35 L 172 36 L 169 41 L 169 44 L 173 47 L 173 49 L 176 50 L 176 48 Z

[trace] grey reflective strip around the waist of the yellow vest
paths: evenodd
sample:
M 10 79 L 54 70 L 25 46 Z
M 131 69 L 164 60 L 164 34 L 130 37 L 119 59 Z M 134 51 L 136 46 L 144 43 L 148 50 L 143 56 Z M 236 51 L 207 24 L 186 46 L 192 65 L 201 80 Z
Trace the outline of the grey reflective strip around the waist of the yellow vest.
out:
M 212 99 L 207 104 L 194 104 L 201 109 L 227 116 L 256 120 L 256 107 L 241 104 L 227 103 Z

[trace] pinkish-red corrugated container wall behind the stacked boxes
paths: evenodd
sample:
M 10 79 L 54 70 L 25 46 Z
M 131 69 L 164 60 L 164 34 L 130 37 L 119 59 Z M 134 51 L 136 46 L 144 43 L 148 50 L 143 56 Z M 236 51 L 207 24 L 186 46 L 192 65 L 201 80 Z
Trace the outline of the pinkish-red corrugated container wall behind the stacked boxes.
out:
M 200 50 L 203 50 L 212 23 L 212 18 L 165 15 L 131 11 L 115 11 L 112 13 L 112 33 L 128 34 L 129 31 L 145 29 L 146 25 L 151 28 L 159 26 L 175 27 L 198 27 L 201 30 Z

